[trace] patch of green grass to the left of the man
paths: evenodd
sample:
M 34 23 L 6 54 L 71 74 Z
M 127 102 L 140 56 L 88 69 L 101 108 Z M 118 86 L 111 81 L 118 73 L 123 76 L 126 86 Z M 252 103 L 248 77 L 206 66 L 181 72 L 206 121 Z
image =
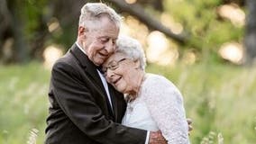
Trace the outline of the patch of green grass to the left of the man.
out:
M 26 143 L 32 129 L 43 143 L 50 71 L 37 63 L 0 66 L 0 143 Z

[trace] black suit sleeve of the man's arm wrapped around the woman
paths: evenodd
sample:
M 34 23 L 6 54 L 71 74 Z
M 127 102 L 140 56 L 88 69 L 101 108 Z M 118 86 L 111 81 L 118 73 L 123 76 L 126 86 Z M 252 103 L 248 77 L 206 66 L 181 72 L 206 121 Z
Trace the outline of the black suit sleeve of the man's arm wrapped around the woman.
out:
M 81 81 L 78 69 L 64 62 L 54 65 L 51 87 L 60 108 L 88 137 L 105 144 L 144 144 L 147 131 L 125 127 L 105 118 L 96 96 Z

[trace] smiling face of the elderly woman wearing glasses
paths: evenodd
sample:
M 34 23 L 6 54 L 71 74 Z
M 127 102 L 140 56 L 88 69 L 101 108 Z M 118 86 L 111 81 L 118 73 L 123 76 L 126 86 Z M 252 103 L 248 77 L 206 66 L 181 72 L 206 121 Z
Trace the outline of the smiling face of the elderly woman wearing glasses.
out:
M 136 86 L 139 61 L 134 62 L 123 53 L 116 52 L 103 64 L 105 78 L 119 92 L 126 94 Z

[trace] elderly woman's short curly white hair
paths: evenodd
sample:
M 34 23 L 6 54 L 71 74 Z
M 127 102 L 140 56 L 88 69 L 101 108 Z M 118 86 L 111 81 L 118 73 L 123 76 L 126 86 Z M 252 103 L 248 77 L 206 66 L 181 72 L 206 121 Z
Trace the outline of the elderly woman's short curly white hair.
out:
M 146 57 L 144 50 L 142 49 L 142 44 L 133 39 L 132 37 L 120 35 L 116 40 L 116 51 L 123 53 L 133 60 L 139 60 L 142 70 L 145 70 L 146 67 Z

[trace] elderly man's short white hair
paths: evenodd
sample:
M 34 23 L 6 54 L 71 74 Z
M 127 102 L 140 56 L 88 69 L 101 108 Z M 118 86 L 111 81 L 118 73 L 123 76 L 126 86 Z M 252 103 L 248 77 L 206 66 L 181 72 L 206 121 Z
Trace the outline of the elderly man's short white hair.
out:
M 79 26 L 86 27 L 89 23 L 95 23 L 102 16 L 108 16 L 117 27 L 120 27 L 122 17 L 116 14 L 114 9 L 103 3 L 87 3 L 81 8 Z

